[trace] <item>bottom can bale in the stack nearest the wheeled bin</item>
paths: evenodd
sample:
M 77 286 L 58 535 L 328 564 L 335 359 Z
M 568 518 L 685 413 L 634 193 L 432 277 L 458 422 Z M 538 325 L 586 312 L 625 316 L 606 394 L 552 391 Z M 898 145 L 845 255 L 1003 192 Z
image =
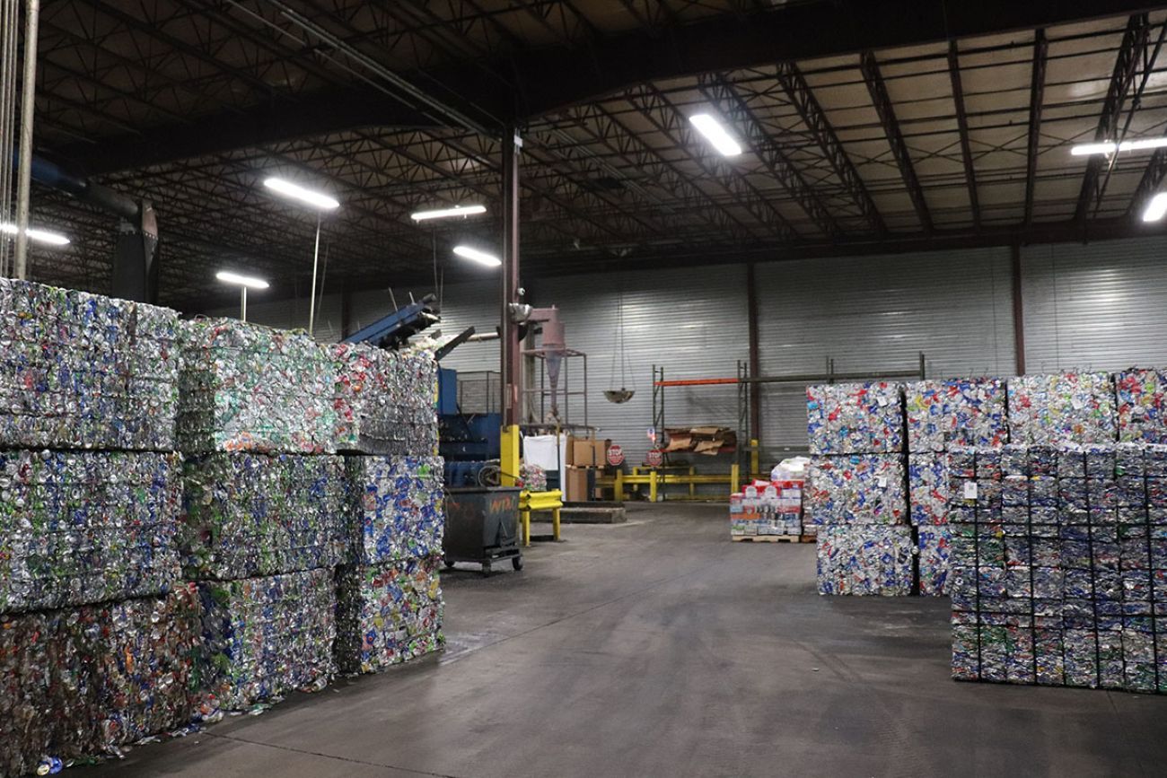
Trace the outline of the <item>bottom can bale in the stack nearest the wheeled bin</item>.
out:
M 431 554 L 340 568 L 336 664 L 342 672 L 371 673 L 442 647 L 440 565 L 441 556 Z

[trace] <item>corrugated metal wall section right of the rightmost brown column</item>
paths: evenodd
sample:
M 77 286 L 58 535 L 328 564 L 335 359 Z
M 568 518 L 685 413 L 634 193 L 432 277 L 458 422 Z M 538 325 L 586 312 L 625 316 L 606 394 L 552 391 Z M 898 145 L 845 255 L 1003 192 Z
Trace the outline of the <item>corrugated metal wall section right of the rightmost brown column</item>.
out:
M 1167 239 L 1021 251 L 1026 371 L 1167 365 Z

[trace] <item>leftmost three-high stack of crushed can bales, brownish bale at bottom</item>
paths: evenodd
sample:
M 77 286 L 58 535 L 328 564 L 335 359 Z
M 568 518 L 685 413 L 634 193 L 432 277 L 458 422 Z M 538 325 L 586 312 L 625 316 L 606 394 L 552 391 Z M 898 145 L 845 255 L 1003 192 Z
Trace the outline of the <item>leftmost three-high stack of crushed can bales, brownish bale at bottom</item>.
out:
M 189 720 L 177 314 L 0 279 L 0 771 Z

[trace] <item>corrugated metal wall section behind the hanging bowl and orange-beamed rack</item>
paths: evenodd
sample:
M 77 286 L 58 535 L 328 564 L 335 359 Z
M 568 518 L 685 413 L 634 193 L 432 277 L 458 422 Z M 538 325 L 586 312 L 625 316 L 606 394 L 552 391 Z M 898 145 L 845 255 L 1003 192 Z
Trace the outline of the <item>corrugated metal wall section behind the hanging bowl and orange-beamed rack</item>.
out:
M 539 306 L 562 310 L 567 345 L 588 356 L 588 421 L 599 434 L 624 447 L 633 464 L 649 449 L 652 425 L 652 365 L 665 378 L 715 378 L 736 374 L 749 350 L 746 268 L 741 265 L 661 272 L 606 273 L 540 280 L 533 285 Z M 614 405 L 603 390 L 620 388 L 616 322 L 623 297 L 628 388 L 636 394 Z M 615 376 L 613 376 L 615 372 Z M 733 386 L 666 390 L 668 426 L 738 426 Z M 728 469 L 727 457 L 698 457 L 712 472 Z

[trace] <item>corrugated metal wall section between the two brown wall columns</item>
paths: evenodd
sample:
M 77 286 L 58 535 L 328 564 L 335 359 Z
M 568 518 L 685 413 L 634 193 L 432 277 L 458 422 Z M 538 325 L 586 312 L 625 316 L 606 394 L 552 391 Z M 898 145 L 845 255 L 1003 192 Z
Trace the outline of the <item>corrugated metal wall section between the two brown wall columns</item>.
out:
M 764 376 L 1012 374 L 1007 248 L 770 262 L 756 268 Z M 762 390 L 764 461 L 806 448 L 805 386 Z

